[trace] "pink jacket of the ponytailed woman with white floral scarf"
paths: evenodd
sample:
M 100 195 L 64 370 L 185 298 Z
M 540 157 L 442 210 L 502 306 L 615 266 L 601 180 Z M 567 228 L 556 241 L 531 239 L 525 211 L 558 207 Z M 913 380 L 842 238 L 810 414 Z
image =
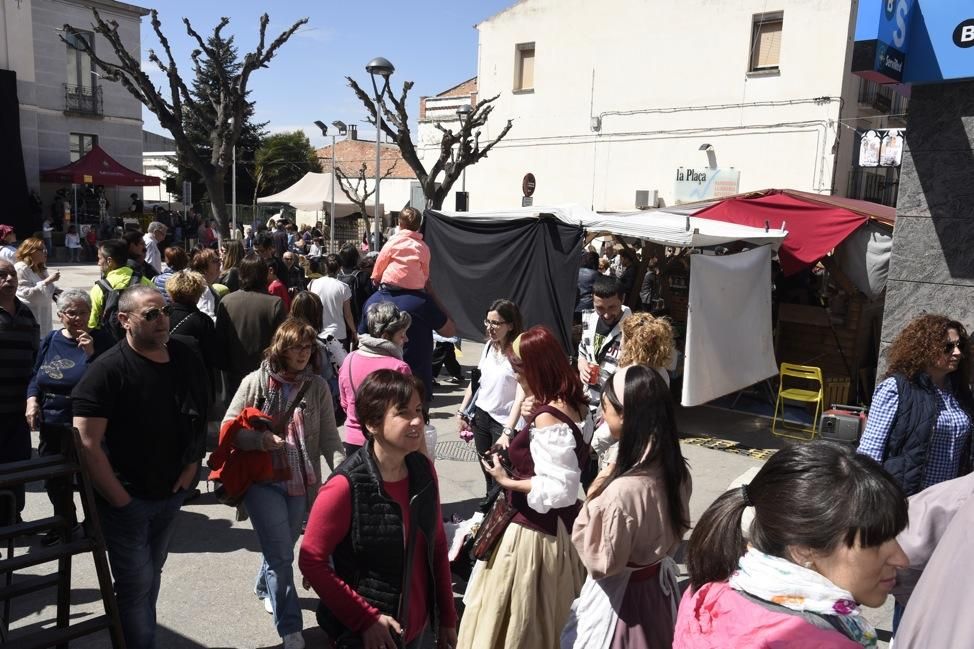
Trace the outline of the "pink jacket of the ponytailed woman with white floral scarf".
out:
M 862 649 L 838 631 L 819 629 L 797 615 L 776 613 L 727 585 L 704 584 L 680 601 L 673 649 Z

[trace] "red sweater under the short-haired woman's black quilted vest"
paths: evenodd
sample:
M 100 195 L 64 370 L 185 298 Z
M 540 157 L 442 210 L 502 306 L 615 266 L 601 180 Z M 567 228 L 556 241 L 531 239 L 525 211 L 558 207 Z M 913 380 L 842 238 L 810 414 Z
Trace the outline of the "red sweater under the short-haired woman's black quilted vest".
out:
M 409 479 L 382 484 L 386 494 L 392 498 L 403 512 L 403 539 L 409 537 Z M 450 560 L 447 557 L 446 533 L 443 531 L 443 516 L 440 504 L 436 504 L 435 548 L 433 569 L 435 571 L 435 596 L 439 601 L 440 626 L 456 627 L 457 613 L 453 605 L 453 583 L 450 575 Z M 308 578 L 318 597 L 335 617 L 346 627 L 363 632 L 379 619 L 379 610 L 371 606 L 335 574 L 331 567 L 331 555 L 344 539 L 352 525 L 352 490 L 348 479 L 336 475 L 322 486 L 311 508 L 308 526 L 301 542 L 298 566 Z M 409 585 L 409 619 L 405 620 L 405 641 L 410 642 L 426 628 L 430 606 L 427 601 L 429 577 L 426 569 L 426 540 L 422 534 L 417 537 L 416 551 L 413 555 L 413 579 Z M 402 624 L 403 620 L 399 620 Z

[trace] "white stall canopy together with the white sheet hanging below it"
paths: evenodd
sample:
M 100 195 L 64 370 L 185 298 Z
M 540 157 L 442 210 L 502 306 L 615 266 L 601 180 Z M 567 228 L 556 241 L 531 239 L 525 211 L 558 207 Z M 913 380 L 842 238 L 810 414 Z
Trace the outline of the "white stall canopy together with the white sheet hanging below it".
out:
M 766 231 L 665 210 L 597 214 L 577 205 L 442 214 L 487 221 L 550 214 L 589 232 L 681 248 L 751 243 L 757 248 L 748 252 L 694 255 L 691 259 L 691 308 L 681 401 L 685 406 L 701 405 L 777 372 L 771 332 L 771 250 L 778 249 L 786 231 Z

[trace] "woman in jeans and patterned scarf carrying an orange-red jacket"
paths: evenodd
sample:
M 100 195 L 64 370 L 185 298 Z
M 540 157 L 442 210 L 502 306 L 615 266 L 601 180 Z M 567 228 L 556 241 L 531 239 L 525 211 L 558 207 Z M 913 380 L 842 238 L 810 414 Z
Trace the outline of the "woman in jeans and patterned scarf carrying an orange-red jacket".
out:
M 240 428 L 234 446 L 270 455 L 271 475 L 252 484 L 243 505 L 260 540 L 262 561 L 254 592 L 274 616 L 285 649 L 303 649 L 301 607 L 294 584 L 294 543 L 309 501 L 321 486 L 319 455 L 334 469 L 345 458 L 335 426 L 331 393 L 318 376 L 314 328 L 289 318 L 278 327 L 260 368 L 248 374 L 233 397 L 223 425 L 245 409 L 269 422 Z M 253 413 L 253 411 L 248 411 Z M 252 418 L 251 418 L 252 419 Z

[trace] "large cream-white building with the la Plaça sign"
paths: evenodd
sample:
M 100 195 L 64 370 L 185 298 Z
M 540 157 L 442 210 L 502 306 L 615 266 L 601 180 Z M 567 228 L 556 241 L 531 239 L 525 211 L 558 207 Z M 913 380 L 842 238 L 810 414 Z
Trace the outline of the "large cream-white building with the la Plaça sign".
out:
M 423 100 L 421 154 L 438 154 L 432 123 L 456 128 L 458 102 L 498 95 L 481 142 L 514 127 L 467 170 L 474 210 L 520 205 L 528 173 L 535 204 L 600 211 L 707 195 L 717 169 L 723 193 L 882 198 L 863 188 L 895 189 L 898 172 L 854 173 L 855 129 L 903 111 L 848 72 L 854 5 L 520 0 L 477 25 L 476 79 Z

